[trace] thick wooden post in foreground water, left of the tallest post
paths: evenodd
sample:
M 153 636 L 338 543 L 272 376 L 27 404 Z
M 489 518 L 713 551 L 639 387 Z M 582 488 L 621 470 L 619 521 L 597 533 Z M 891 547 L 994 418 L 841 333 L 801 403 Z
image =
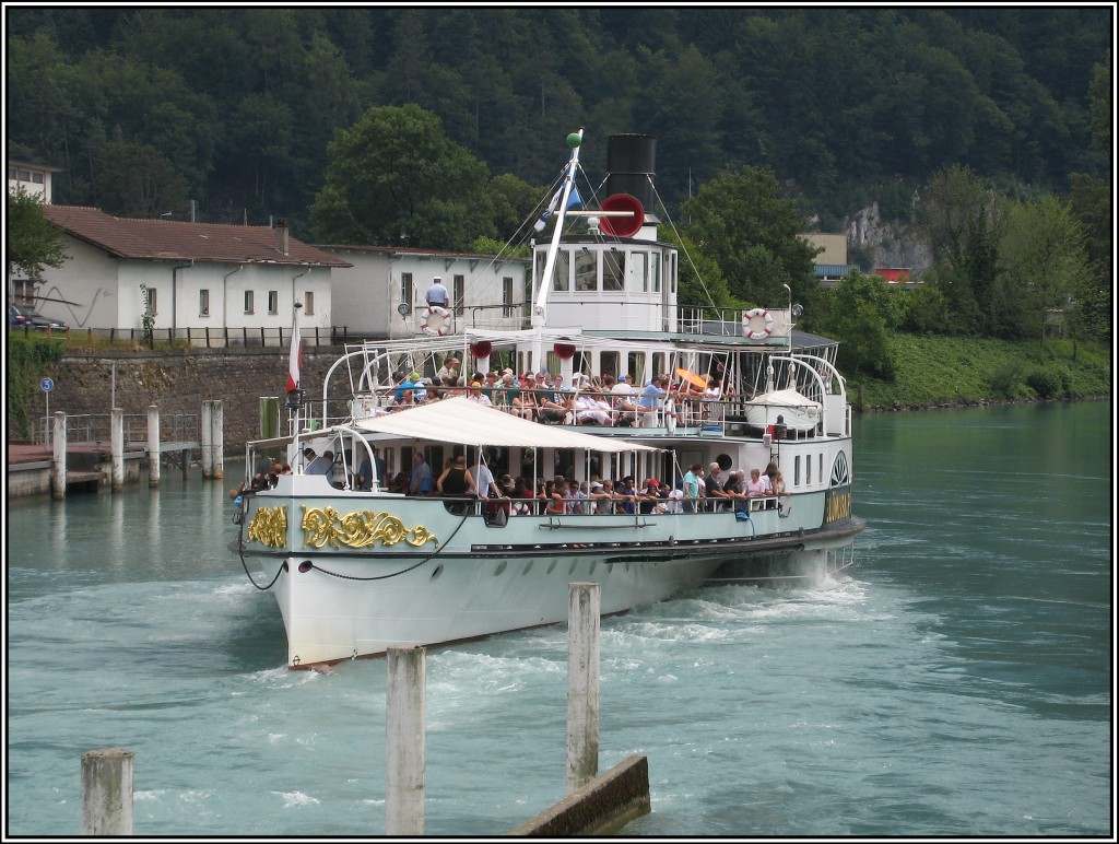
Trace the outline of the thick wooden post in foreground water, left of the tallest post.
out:
M 385 834 L 423 835 L 426 650 L 388 648 L 385 713 Z

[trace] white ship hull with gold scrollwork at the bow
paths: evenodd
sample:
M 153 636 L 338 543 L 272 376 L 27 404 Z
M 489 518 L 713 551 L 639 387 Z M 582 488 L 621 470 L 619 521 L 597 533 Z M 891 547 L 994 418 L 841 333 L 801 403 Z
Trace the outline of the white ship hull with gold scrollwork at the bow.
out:
M 251 504 L 242 546 L 246 562 L 260 569 L 254 580 L 275 580 L 288 664 L 298 668 L 561 622 L 572 582 L 600 583 L 602 612 L 624 612 L 697 587 L 722 565 L 736 566 L 741 576 L 752 557 L 822 548 L 849 541 L 861 527 L 840 518 L 806 533 L 806 523 L 821 524 L 826 494 L 796 498 L 781 509 L 777 499 L 752 501 L 758 509 L 747 521 L 727 509 L 515 516 L 489 525 L 482 515 L 451 515 L 438 499 L 262 494 Z M 297 529 L 285 540 L 298 550 L 265 552 L 253 538 L 257 512 L 270 518 L 278 507 L 293 517 L 288 521 Z M 319 517 L 331 512 L 333 534 Z M 355 522 L 373 527 L 355 532 Z M 387 523 L 394 529 L 377 527 Z M 303 524 L 311 528 L 299 529 Z M 425 537 L 420 546 L 408 542 Z

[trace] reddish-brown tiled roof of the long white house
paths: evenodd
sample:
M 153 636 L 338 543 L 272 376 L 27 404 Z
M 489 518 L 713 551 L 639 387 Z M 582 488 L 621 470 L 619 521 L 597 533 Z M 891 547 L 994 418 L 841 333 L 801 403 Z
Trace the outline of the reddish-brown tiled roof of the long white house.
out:
M 62 226 L 67 234 L 117 257 L 224 264 L 352 266 L 290 236 L 288 254 L 284 255 L 276 245 L 276 231 L 269 226 L 133 219 L 75 205 L 48 205 L 45 209 L 51 222 Z

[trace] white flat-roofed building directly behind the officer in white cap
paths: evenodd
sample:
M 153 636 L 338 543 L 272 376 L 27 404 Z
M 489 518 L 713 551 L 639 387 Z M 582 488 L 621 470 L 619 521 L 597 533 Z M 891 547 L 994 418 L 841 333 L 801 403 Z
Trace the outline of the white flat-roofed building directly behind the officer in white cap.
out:
M 335 270 L 335 325 L 348 335 L 411 337 L 423 330 L 424 293 L 439 276 L 451 296 L 450 330 L 521 328 L 528 312 L 529 259 L 499 259 L 392 246 L 320 245 L 345 260 Z

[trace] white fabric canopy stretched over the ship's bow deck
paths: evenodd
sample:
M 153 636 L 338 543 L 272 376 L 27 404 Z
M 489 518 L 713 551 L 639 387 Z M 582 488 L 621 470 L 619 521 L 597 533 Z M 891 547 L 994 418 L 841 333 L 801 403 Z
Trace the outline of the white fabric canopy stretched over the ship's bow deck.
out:
M 354 426 L 374 433 L 454 442 L 461 446 L 585 449 L 610 453 L 660 451 L 650 446 L 632 442 L 628 438 L 593 437 L 530 422 L 504 411 L 485 407 L 462 396 L 363 419 Z

